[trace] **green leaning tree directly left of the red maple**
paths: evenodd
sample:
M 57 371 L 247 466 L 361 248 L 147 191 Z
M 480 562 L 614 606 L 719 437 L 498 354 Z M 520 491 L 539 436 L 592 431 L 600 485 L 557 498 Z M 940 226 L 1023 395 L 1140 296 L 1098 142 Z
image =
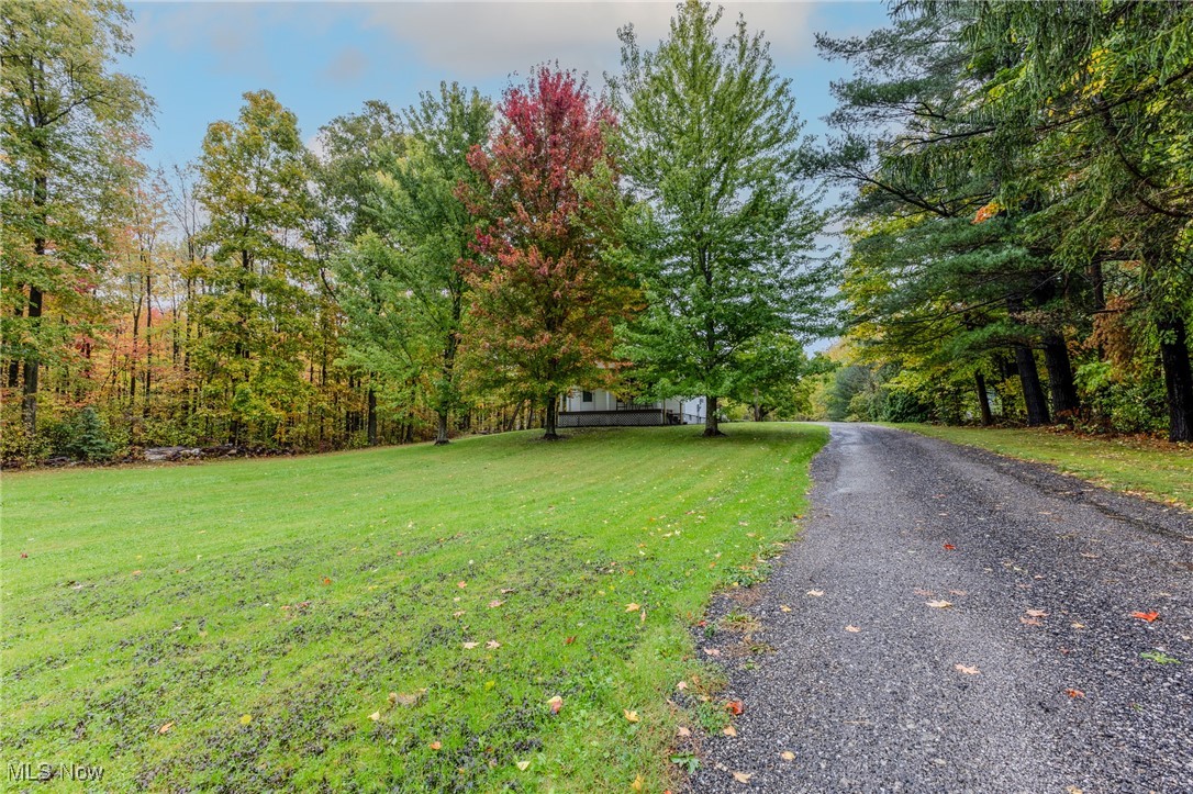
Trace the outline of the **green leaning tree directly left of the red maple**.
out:
M 340 262 L 354 356 L 421 384 L 447 443 L 460 405 L 458 352 L 477 222 L 458 197 L 476 186 L 469 153 L 488 141 L 493 108 L 477 91 L 443 83 L 404 116 L 404 154 L 371 179 L 370 229 Z

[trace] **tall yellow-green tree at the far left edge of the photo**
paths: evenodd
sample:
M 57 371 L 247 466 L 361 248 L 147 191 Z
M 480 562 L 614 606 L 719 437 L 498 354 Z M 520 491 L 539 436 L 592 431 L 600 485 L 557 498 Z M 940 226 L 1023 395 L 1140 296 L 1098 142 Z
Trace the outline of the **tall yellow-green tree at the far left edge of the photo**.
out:
M 137 80 L 111 70 L 131 51 L 130 20 L 115 0 L 4 5 L 0 330 L 30 434 L 42 362 L 69 358 L 95 318 L 106 217 L 152 105 Z

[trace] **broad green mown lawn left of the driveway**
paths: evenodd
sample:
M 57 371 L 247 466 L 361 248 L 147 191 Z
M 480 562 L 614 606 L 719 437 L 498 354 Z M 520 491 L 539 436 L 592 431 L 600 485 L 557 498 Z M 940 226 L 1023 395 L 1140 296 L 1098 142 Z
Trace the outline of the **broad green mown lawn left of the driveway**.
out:
M 725 719 L 690 627 L 792 536 L 827 439 L 727 430 L 5 474 L 2 761 L 107 790 L 661 790 L 676 728 Z

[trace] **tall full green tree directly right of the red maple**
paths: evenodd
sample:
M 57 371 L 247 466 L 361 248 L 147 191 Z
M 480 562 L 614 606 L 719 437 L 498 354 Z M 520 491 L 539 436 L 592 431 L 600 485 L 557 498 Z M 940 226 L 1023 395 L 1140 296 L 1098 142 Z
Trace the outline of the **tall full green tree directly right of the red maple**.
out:
M 648 309 L 626 352 L 659 397 L 717 401 L 755 377 L 764 340 L 818 330 L 823 268 L 810 267 L 823 217 L 801 192 L 801 123 L 790 82 L 761 33 L 740 19 L 721 42 L 722 12 L 691 0 L 655 51 L 620 31 L 613 81 L 630 194 L 630 247 L 642 256 Z

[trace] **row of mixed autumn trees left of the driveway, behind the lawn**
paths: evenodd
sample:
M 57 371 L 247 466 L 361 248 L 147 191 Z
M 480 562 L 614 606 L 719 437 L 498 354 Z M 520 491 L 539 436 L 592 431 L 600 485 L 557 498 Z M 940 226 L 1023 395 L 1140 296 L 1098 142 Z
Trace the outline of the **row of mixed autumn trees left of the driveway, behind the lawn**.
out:
M 577 386 L 704 395 L 716 435 L 718 401 L 790 399 L 826 325 L 789 81 L 707 4 L 654 50 L 623 29 L 602 93 L 443 83 L 311 150 L 262 89 L 160 169 L 123 5 L 2 14 L 6 460 L 555 438 Z

